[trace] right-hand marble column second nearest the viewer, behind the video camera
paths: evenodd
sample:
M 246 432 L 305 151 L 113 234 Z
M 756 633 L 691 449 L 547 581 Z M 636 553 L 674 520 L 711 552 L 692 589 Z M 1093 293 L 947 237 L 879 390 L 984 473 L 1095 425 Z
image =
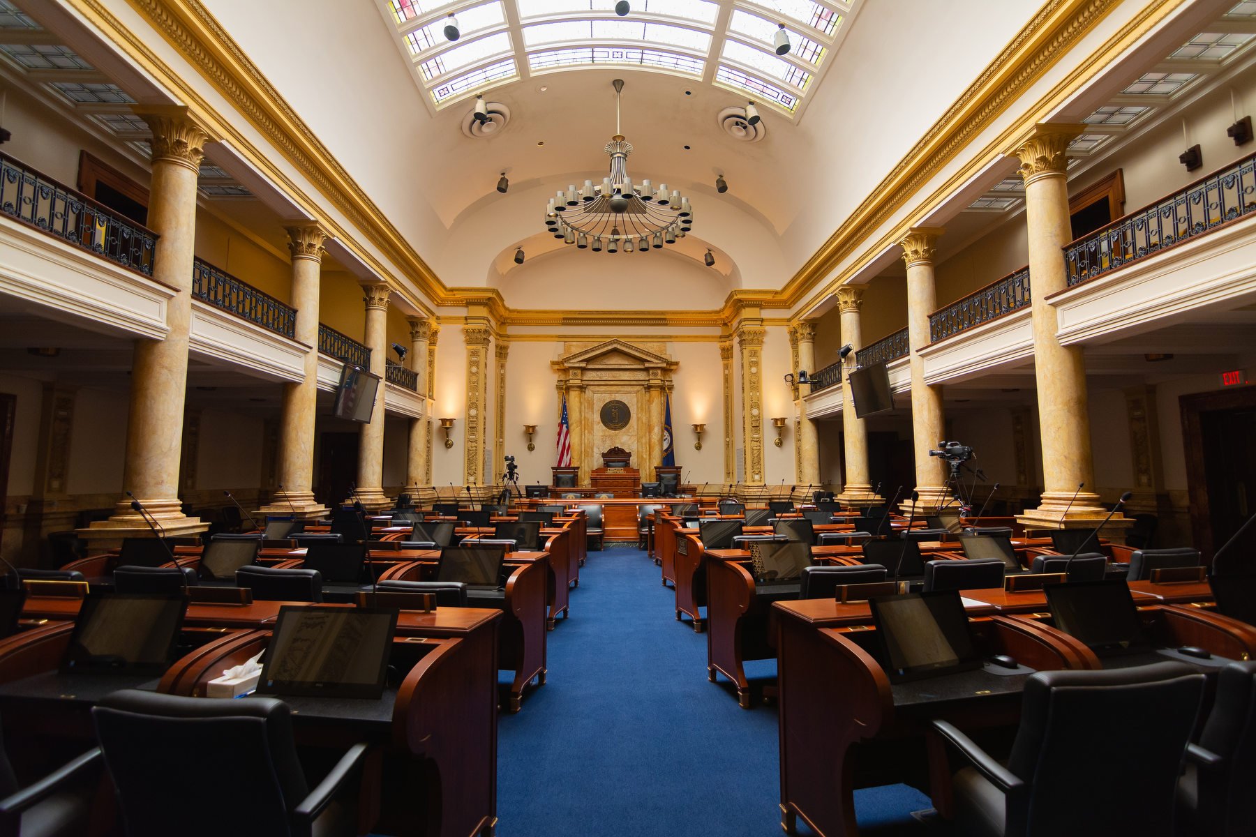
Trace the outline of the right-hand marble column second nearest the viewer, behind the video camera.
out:
M 941 439 L 946 438 L 942 424 L 942 388 L 924 383 L 924 359 L 921 349 L 929 345 L 929 314 L 937 310 L 937 292 L 933 289 L 933 253 L 942 230 L 914 227 L 899 242 L 907 264 L 907 341 L 912 368 L 912 447 L 916 454 L 916 514 L 932 513 L 950 499 L 948 469 L 938 457 L 931 457 Z M 911 511 L 908 497 L 902 508 Z

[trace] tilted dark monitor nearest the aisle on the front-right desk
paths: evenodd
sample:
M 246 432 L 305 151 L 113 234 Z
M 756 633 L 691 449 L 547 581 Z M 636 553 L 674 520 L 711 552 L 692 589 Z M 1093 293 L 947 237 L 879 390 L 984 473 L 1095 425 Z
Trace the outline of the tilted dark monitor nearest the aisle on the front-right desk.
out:
M 868 604 L 891 683 L 981 668 L 958 590 L 875 596 Z

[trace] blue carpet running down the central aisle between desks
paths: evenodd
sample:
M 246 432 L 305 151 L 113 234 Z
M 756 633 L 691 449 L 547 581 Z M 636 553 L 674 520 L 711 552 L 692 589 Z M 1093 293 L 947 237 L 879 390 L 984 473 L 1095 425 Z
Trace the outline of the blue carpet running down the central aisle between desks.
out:
M 775 705 L 737 706 L 706 676 L 706 634 L 676 621 L 644 552 L 590 552 L 571 616 L 549 635 L 549 680 L 501 715 L 501 837 L 779 837 Z M 775 663 L 747 675 L 775 676 Z M 862 833 L 931 834 L 906 786 L 855 792 Z M 800 823 L 801 833 L 808 833 Z

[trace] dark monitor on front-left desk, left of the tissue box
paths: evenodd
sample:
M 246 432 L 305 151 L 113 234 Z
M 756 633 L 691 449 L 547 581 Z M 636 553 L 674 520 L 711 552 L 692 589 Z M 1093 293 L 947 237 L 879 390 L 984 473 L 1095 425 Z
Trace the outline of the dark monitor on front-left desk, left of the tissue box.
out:
M 186 610 L 182 595 L 88 594 L 62 670 L 161 674 L 175 660 Z

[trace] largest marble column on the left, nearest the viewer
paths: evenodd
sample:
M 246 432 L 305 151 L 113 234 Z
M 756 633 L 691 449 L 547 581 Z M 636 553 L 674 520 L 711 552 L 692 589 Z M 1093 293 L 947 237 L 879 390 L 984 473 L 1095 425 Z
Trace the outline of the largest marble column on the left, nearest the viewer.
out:
M 191 535 L 208 528 L 197 518 L 185 517 L 178 499 L 192 324 L 196 178 L 208 134 L 182 107 L 144 109 L 139 115 L 153 134 L 148 227 L 160 236 L 153 280 L 177 292 L 166 306 L 166 336 L 134 344 L 122 487 L 143 503 L 166 535 Z M 92 551 L 118 546 L 124 537 L 151 536 L 141 514 L 132 511 L 131 497 L 118 502 L 113 517 L 79 533 Z

